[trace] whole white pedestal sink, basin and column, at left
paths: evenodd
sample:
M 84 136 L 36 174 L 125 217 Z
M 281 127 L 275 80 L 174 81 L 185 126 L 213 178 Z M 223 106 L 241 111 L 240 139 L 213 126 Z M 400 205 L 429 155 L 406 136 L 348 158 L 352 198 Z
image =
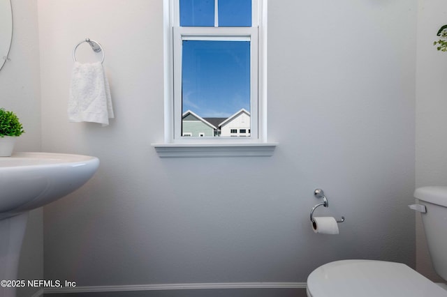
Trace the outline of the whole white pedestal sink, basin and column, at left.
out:
M 99 160 L 63 153 L 14 153 L 0 157 L 0 280 L 16 280 L 27 213 L 86 183 Z M 14 287 L 0 287 L 14 297 Z

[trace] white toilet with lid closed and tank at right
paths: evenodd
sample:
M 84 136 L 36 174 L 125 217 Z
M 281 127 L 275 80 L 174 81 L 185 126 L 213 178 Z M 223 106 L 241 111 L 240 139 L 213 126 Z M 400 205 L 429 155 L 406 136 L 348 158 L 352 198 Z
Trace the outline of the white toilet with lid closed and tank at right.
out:
M 434 270 L 447 280 L 447 187 L 422 187 L 410 206 L 422 215 Z M 435 284 L 405 264 L 342 260 L 324 264 L 307 277 L 308 297 L 437 297 L 447 296 L 444 284 Z

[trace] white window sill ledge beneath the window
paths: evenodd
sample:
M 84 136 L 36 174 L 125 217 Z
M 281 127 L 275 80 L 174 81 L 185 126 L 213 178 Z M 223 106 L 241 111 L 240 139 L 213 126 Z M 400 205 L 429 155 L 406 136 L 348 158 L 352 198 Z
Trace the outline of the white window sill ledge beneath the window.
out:
M 252 144 L 152 144 L 160 158 L 270 157 L 276 142 Z

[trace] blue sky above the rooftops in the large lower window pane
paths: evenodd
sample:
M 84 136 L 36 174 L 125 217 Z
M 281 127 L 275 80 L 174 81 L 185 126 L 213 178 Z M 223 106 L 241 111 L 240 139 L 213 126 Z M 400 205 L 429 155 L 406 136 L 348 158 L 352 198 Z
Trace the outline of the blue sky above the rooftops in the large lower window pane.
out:
M 228 117 L 250 110 L 250 43 L 183 42 L 182 112 Z

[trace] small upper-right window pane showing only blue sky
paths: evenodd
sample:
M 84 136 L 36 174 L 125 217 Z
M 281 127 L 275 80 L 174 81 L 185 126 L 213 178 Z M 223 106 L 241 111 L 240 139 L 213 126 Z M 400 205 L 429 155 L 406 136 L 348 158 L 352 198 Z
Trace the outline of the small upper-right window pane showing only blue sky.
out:
M 219 26 L 251 26 L 251 0 L 219 0 Z

